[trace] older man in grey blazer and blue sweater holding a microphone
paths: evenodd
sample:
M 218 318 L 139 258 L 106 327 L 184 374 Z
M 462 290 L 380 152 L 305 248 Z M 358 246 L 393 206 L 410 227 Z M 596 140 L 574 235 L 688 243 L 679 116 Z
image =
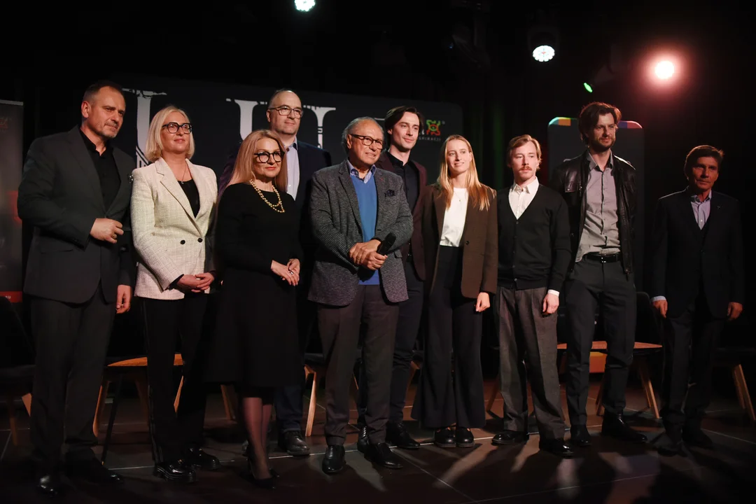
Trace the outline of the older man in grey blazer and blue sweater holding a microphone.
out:
M 326 357 L 328 448 L 323 471 L 345 466 L 349 386 L 355 351 L 365 324 L 363 358 L 367 386 L 365 458 L 401 468 L 386 444 L 394 334 L 398 303 L 407 299 L 401 246 L 412 237 L 412 213 L 401 177 L 376 169 L 383 131 L 369 117 L 347 125 L 342 134 L 347 159 L 312 178 L 310 214 L 318 242 L 309 299 L 318 304 L 318 329 Z M 394 237 L 391 242 L 391 235 Z M 388 250 L 378 252 L 386 241 Z

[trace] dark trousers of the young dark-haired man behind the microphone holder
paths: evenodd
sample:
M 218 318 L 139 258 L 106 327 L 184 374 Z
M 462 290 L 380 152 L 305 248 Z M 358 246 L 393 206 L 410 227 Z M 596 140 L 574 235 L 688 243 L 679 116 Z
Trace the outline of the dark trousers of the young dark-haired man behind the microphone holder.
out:
M 420 319 L 423 317 L 423 280 L 417 276 L 412 258 L 404 262 L 404 277 L 407 279 L 407 301 L 399 303 L 399 320 L 396 325 L 394 340 L 394 363 L 391 373 L 391 399 L 389 402 L 389 422 L 404 420 L 404 403 L 407 400 L 407 382 L 410 381 L 410 366 L 414 356 Z M 358 379 L 360 394 L 358 405 L 358 423 L 364 425 L 367 408 L 367 379 L 364 366 L 360 366 Z

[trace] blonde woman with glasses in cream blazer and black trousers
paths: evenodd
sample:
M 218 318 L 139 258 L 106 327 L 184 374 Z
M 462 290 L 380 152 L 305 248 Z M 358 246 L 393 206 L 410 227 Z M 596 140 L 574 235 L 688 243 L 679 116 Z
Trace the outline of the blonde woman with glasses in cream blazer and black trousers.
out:
M 218 185 L 215 172 L 189 161 L 191 122 L 166 107 L 147 131 L 151 165 L 132 172 L 132 232 L 138 252 L 135 305 L 147 344 L 153 474 L 191 483 L 194 468 L 220 462 L 200 449 L 205 421 L 203 315 L 215 280 L 209 230 Z M 173 408 L 173 360 L 178 337 L 184 385 Z

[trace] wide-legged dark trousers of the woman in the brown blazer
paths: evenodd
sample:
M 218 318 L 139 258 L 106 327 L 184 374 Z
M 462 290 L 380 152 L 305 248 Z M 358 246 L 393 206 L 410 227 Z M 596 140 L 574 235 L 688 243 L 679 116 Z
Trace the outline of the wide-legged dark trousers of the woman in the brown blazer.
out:
M 412 408 L 412 417 L 426 428 L 485 425 L 480 362 L 483 315 L 475 311 L 476 299 L 462 296 L 461 261 L 457 247 L 439 247 L 435 286 L 426 305 L 423 369 Z

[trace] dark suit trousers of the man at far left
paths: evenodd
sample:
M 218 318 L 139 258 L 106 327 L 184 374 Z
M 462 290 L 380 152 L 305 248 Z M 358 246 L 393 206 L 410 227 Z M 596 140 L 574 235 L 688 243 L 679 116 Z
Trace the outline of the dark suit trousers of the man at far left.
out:
M 98 391 L 116 315 L 101 286 L 81 304 L 30 298 L 36 369 L 29 436 L 33 460 L 54 468 L 67 459 L 91 459 Z

